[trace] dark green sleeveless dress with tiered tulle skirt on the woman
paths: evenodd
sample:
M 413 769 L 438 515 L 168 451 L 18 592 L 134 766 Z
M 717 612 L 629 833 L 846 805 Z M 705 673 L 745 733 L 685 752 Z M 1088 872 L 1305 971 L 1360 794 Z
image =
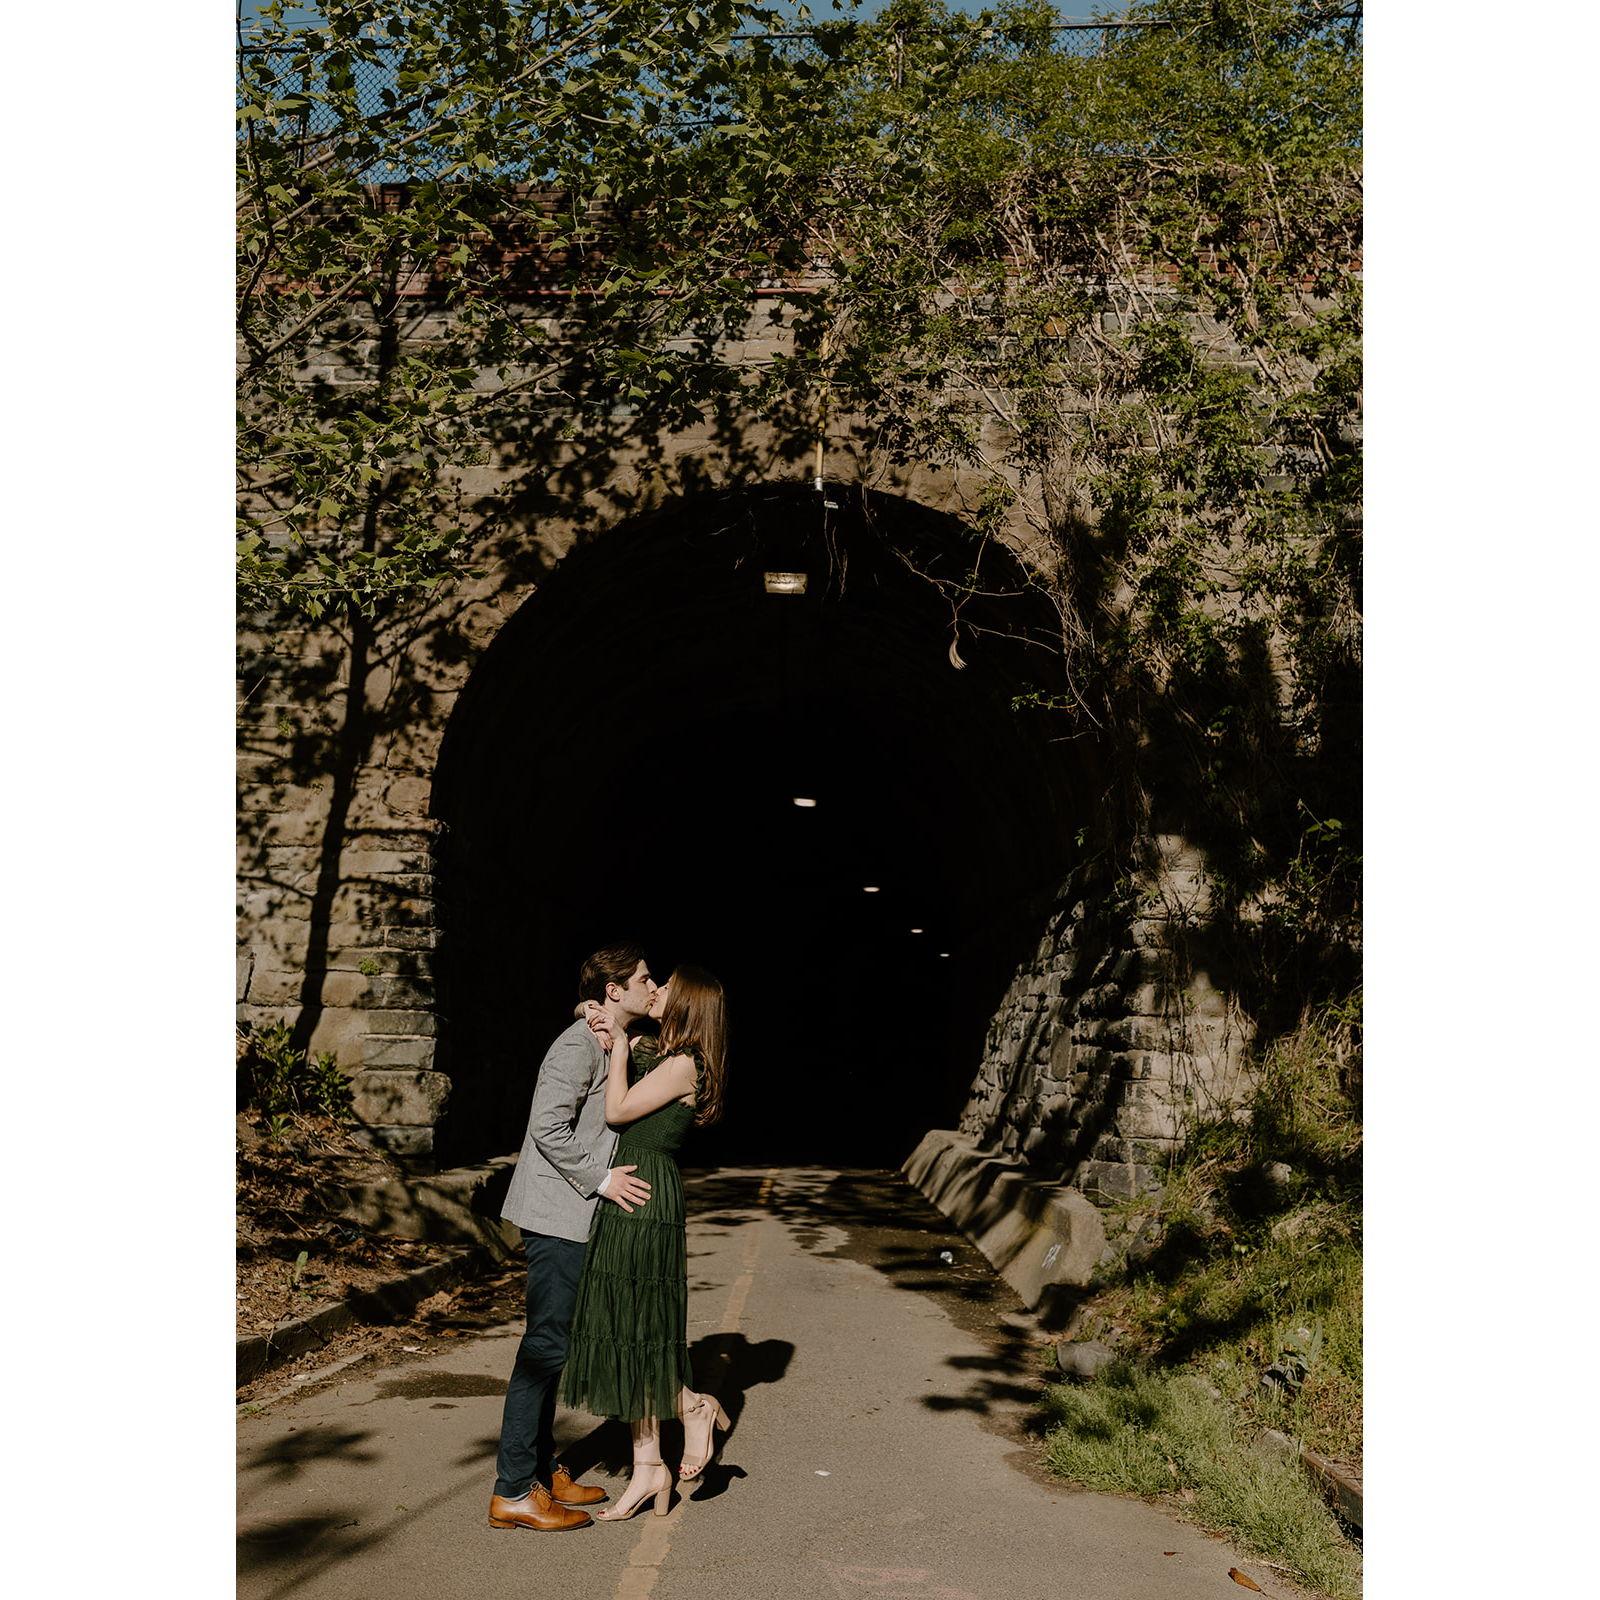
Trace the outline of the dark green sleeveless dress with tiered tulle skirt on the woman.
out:
M 635 1045 L 629 1085 L 658 1059 L 653 1045 Z M 650 1200 L 632 1211 L 602 1200 L 589 1232 L 562 1398 L 594 1416 L 677 1416 L 678 1390 L 693 1387 L 683 1179 L 672 1158 L 693 1122 L 693 1106 L 670 1101 L 616 1141 L 611 1165 L 635 1165 Z

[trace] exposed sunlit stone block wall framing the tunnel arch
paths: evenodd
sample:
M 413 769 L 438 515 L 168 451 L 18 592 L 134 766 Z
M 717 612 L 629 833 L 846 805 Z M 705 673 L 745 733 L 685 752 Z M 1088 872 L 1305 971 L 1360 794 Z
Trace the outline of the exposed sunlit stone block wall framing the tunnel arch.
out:
M 450 326 L 440 307 L 419 302 L 416 312 L 406 338 L 440 338 Z M 326 358 L 312 363 L 334 379 L 374 349 L 360 306 L 347 322 L 330 334 Z M 792 330 L 766 314 L 730 338 L 750 357 L 794 347 Z M 341 339 L 347 349 L 338 349 Z M 528 462 L 515 450 L 464 467 L 462 510 L 482 520 L 482 570 L 381 622 L 365 677 L 338 630 L 245 619 L 238 1018 L 296 1022 L 314 1053 L 331 1051 L 376 1142 L 427 1155 L 454 1070 L 434 982 L 440 824 L 432 806 L 456 696 L 506 621 L 582 539 L 675 496 L 792 480 L 792 442 L 746 421 L 733 430 L 738 450 L 704 421 L 648 448 L 610 446 L 582 462 L 581 494 L 552 490 L 538 517 L 515 510 L 530 493 Z M 864 437 L 870 419 L 856 422 Z M 856 474 L 856 422 L 834 419 L 830 477 Z M 550 459 L 565 470 L 581 456 L 574 443 L 570 459 Z M 963 470 L 910 464 L 870 482 L 965 517 L 987 478 Z M 1034 538 L 1013 512 L 1005 539 L 1024 560 Z M 365 683 L 354 718 L 352 680 Z M 1171 835 L 1147 840 L 1147 856 L 1131 885 L 1080 867 L 1042 912 L 1037 949 L 995 1011 L 960 1123 L 974 1147 L 1098 1198 L 1157 1182 L 1184 1130 L 1242 1088 L 1245 1029 L 1226 984 L 1197 970 L 1174 938 L 1205 915 L 1203 862 Z M 458 1110 L 464 1102 L 462 1093 Z

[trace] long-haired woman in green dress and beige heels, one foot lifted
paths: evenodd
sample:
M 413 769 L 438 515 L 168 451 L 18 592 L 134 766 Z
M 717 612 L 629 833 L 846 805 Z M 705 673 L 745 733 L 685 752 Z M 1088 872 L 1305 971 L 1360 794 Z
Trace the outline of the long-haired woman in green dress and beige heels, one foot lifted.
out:
M 595 1032 L 610 1048 L 606 1122 L 622 1133 L 613 1162 L 634 1163 L 650 1200 L 632 1210 L 600 1206 L 573 1307 L 562 1398 L 595 1416 L 626 1418 L 634 1434 L 634 1477 L 606 1522 L 632 1517 L 654 1498 L 658 1517 L 672 1501 L 672 1474 L 661 1459 L 661 1418 L 683 1418 L 680 1475 L 698 1475 L 712 1451 L 723 1408 L 690 1386 L 688 1242 L 683 1179 L 674 1154 L 691 1126 L 722 1115 L 728 1034 L 722 984 L 698 966 L 680 966 L 658 990 L 650 1014 L 656 1040 L 632 1048 L 626 1034 Z

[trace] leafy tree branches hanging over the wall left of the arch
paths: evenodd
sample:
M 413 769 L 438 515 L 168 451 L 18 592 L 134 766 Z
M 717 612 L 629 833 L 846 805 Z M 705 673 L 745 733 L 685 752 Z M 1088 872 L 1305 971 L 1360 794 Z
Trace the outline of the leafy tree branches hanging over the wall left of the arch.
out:
M 317 13 L 269 0 L 238 54 L 238 582 L 354 622 L 470 570 L 459 475 L 507 426 L 552 470 L 619 406 L 728 387 L 771 262 L 747 197 L 784 173 L 718 115 L 760 6 Z

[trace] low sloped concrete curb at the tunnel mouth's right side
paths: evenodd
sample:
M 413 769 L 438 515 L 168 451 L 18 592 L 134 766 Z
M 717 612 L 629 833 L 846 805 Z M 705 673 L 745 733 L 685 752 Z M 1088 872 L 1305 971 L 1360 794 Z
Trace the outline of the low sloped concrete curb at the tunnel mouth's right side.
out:
M 1077 1189 L 946 1128 L 901 1168 L 1046 1325 L 1072 1314 L 1106 1250 L 1106 1224 Z

